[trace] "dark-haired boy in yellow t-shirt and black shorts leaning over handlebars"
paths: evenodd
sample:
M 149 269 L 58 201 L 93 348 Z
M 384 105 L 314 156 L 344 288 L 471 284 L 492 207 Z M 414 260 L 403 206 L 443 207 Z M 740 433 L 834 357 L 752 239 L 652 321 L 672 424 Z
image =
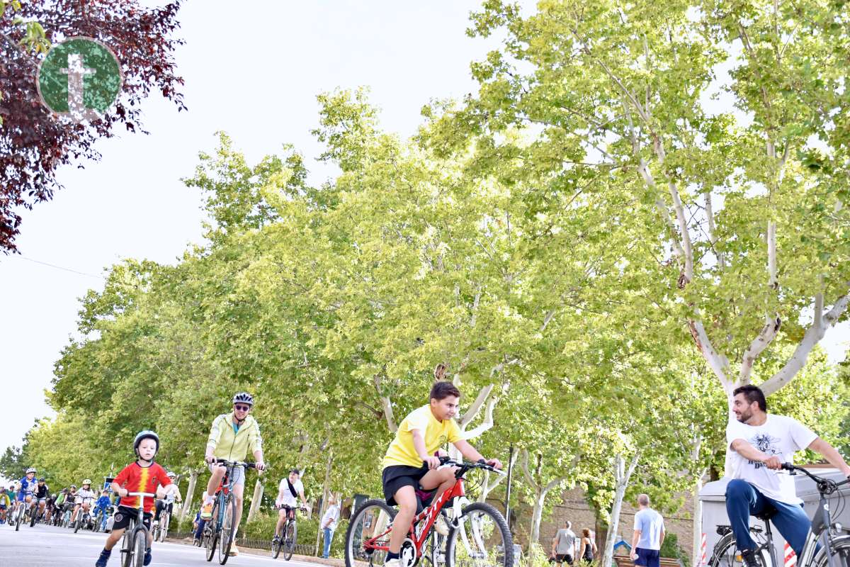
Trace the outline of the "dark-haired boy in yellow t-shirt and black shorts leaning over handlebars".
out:
M 383 496 L 390 506 L 398 505 L 399 513 L 393 521 L 389 538 L 389 553 L 384 567 L 400 567 L 399 551 L 416 515 L 416 489 L 431 491 L 433 498 L 455 485 L 455 469 L 439 468 L 439 457 L 433 456 L 442 445 L 451 443 L 470 461 L 483 461 L 484 457 L 462 438 L 454 417 L 461 392 L 450 382 L 437 382 L 429 394 L 430 403 L 422 405 L 405 417 L 395 432 L 383 457 Z M 501 468 L 498 459 L 487 461 L 491 467 Z M 438 516 L 434 530 L 445 535 L 448 526 Z

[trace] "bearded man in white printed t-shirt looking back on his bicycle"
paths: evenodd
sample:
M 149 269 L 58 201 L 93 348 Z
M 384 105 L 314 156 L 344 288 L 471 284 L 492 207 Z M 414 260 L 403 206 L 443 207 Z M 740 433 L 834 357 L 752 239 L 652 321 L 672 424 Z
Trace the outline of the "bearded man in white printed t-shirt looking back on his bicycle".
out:
M 759 566 L 756 543 L 750 536 L 750 516 L 770 510 L 775 510 L 770 521 L 800 557 L 812 522 L 796 496 L 794 477 L 777 471 L 803 449 L 820 453 L 845 476 L 850 476 L 850 467 L 832 445 L 801 422 L 768 415 L 768 402 L 760 388 L 741 386 L 733 394 L 737 421 L 730 420 L 726 428 L 728 448 L 734 451 L 726 471 L 733 479 L 726 487 L 726 512 L 745 567 Z

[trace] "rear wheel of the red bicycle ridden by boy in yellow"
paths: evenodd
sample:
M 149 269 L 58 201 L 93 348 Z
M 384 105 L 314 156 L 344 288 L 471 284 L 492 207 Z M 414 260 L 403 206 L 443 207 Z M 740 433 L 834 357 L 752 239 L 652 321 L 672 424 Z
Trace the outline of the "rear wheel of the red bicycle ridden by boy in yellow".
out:
M 357 508 L 345 530 L 345 566 L 364 567 L 366 564 L 381 567 L 387 557 L 389 529 L 396 511 L 383 500 L 367 500 Z

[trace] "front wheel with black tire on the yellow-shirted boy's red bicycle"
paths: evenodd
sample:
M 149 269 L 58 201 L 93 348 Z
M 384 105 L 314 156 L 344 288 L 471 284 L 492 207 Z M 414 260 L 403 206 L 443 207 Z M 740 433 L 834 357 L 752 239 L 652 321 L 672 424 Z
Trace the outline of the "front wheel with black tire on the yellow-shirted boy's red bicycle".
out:
M 492 522 L 491 527 L 484 526 L 481 519 L 476 520 L 477 515 L 488 517 Z M 473 522 L 476 521 L 478 523 L 473 524 Z M 478 544 L 473 550 L 466 547 L 466 549 L 463 550 L 466 552 L 466 555 L 469 555 L 473 559 L 479 557 L 481 554 L 484 554 L 484 557 L 490 557 L 490 554 L 497 550 L 500 545 L 498 541 L 493 540 L 496 532 L 499 532 L 498 536 L 501 538 L 501 561 L 497 561 L 496 564 L 503 565 L 503 567 L 513 567 L 513 537 L 511 536 L 511 530 L 508 530 L 507 528 L 507 522 L 505 521 L 504 516 L 501 515 L 501 512 L 499 512 L 496 507 L 485 502 L 473 502 L 472 504 L 463 507 L 461 517 L 458 519 L 458 522 L 461 523 L 463 530 L 456 529 L 452 526 L 450 527 L 449 535 L 446 536 L 446 567 L 457 567 L 457 565 L 463 564 L 462 557 L 458 557 L 458 553 L 461 552 L 461 547 L 458 547 L 457 541 L 459 537 L 464 536 L 466 524 L 469 524 L 469 529 L 473 532 L 472 540 Z M 469 539 L 470 538 L 466 537 L 464 538 L 464 541 L 469 541 Z M 496 558 L 499 558 L 498 551 L 496 551 Z

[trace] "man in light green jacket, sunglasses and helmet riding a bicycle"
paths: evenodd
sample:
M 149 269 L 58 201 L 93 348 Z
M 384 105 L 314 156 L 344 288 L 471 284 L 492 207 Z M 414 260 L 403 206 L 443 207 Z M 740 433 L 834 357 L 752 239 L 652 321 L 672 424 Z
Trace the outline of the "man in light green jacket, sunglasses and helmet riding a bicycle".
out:
M 204 505 L 201 507 L 201 519 L 212 519 L 212 503 L 215 501 L 215 490 L 224 478 L 226 468 L 216 464 L 216 459 L 228 461 L 244 461 L 250 450 L 257 462 L 257 470 L 265 468 L 263 464 L 263 438 L 260 436 L 260 426 L 252 416 L 248 415 L 254 405 L 254 399 L 247 392 L 233 396 L 233 411 L 223 413 L 212 420 L 209 439 L 207 439 L 206 461 L 209 463 L 210 481 L 207 492 L 204 493 Z M 234 519 L 234 538 L 239 530 L 242 519 L 242 497 L 245 493 L 245 469 L 236 467 L 233 472 L 233 493 L 236 496 L 236 517 Z M 230 546 L 230 555 L 237 555 L 239 549 L 235 544 Z

